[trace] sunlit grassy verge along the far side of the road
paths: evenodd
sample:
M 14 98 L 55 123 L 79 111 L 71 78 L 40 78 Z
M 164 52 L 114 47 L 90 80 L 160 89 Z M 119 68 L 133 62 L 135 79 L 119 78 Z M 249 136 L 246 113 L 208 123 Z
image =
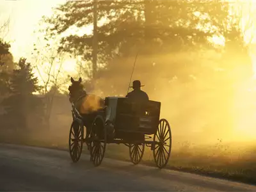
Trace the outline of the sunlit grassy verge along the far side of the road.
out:
M 47 148 L 68 148 L 68 136 L 54 137 L 51 134 L 4 133 L 0 136 L 3 143 L 14 143 Z M 43 139 L 44 138 L 44 139 Z M 87 149 L 84 148 L 87 153 Z M 106 157 L 129 161 L 129 149 L 124 145 L 108 145 Z M 256 184 L 256 147 L 241 147 L 218 140 L 216 145 L 196 146 L 188 142 L 175 143 L 166 168 L 184 172 L 199 173 L 221 179 L 230 179 Z M 155 166 L 152 151 L 145 148 L 143 164 Z

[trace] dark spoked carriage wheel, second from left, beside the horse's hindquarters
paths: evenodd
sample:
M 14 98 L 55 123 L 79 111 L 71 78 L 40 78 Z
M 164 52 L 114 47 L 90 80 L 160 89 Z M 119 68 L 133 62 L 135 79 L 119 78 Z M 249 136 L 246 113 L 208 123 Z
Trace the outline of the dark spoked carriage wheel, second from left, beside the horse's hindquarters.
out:
M 105 121 L 102 116 L 96 116 L 93 121 L 90 138 L 92 140 L 90 145 L 91 161 L 95 166 L 99 166 L 104 158 L 107 141 Z

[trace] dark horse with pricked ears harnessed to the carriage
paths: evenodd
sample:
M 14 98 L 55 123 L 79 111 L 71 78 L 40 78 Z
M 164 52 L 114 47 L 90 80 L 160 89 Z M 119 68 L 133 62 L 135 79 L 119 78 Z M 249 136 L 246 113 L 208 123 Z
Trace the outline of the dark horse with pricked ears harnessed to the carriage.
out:
M 88 138 L 93 120 L 104 110 L 104 100 L 95 95 L 87 94 L 83 84 L 81 84 L 81 77 L 79 77 L 78 81 L 75 81 L 73 77 L 71 77 L 70 81 L 72 84 L 68 87 L 69 100 L 74 104 L 79 115 L 83 117 L 83 124 L 86 127 L 85 138 Z

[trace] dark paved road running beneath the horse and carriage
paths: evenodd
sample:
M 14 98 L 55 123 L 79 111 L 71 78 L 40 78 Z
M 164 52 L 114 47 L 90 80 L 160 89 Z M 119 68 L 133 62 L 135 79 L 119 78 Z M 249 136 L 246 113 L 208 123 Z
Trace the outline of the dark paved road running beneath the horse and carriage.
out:
M 83 155 L 71 163 L 65 151 L 0 144 L 0 191 L 256 191 L 256 186 L 112 159 L 95 168 L 88 159 Z

